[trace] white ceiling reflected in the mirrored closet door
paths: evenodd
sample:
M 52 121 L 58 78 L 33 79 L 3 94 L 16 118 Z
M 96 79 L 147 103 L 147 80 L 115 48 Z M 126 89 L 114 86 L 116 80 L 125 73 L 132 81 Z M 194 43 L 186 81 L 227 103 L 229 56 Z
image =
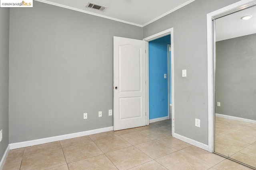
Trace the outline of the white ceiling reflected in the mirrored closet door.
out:
M 241 17 L 251 15 L 249 20 Z M 256 33 L 256 6 L 218 18 L 215 21 L 216 41 Z

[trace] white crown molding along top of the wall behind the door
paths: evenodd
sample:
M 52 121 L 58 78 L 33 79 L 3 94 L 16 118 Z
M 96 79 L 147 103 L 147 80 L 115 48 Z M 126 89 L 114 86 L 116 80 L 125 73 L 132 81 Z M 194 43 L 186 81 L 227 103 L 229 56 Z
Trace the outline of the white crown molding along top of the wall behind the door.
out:
M 35 1 L 43 2 L 45 4 L 50 4 L 50 5 L 54 5 L 54 6 L 59 6 L 59 7 L 62 7 L 62 8 L 67 8 L 67 9 L 78 11 L 78 12 L 83 12 L 83 13 L 90 14 L 90 15 L 93 15 L 93 16 L 98 16 L 98 17 L 106 18 L 106 19 L 109 19 L 109 20 L 114 20 L 114 21 L 118 21 L 118 22 L 127 23 L 127 24 L 130 24 L 130 25 L 135 25 L 135 26 L 138 26 L 138 27 L 142 27 L 142 25 L 137 24 L 137 23 L 132 23 L 132 22 L 128 22 L 128 21 L 124 21 L 124 20 L 119 20 L 119 19 L 116 19 L 116 18 L 112 18 L 112 17 L 100 15 L 100 14 L 95 14 L 93 12 L 80 10 L 78 8 L 73 8 L 73 7 L 70 7 L 70 6 L 66 6 L 66 5 L 62 5 L 62 4 L 57 4 L 57 3 L 54 3 L 54 2 L 49 2 L 47 0 L 35 0 Z

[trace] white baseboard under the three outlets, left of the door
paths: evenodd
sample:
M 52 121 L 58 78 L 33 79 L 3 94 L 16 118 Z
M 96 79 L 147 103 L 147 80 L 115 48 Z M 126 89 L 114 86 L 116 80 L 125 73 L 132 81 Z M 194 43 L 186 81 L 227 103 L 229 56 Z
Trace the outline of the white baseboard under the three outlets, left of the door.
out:
M 78 133 L 70 133 L 67 135 L 60 135 L 60 136 L 55 136 L 55 137 L 36 139 L 36 140 L 32 140 L 32 141 L 11 143 L 9 146 L 10 146 L 10 150 L 12 150 L 12 149 L 30 147 L 30 146 L 34 146 L 34 145 L 40 145 L 40 144 L 49 143 L 49 142 L 61 141 L 61 140 L 65 140 L 65 139 L 71 139 L 71 138 L 75 138 L 75 137 L 93 135 L 96 133 L 102 133 L 102 132 L 113 131 L 113 130 L 114 130 L 113 126 L 104 127 L 101 129 L 94 129 L 94 130 L 83 131 L 83 132 L 78 132 Z

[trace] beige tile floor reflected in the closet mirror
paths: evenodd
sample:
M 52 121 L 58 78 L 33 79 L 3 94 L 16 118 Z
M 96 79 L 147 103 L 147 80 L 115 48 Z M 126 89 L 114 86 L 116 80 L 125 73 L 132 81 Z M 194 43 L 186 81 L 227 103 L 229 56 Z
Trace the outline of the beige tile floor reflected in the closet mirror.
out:
M 256 168 L 256 124 L 215 118 L 215 152 Z

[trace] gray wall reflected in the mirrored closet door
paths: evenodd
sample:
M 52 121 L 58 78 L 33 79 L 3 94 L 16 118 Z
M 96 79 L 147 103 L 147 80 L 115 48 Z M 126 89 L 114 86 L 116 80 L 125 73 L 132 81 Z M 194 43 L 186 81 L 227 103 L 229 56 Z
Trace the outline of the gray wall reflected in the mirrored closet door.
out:
M 216 42 L 215 95 L 216 113 L 256 120 L 256 34 Z

